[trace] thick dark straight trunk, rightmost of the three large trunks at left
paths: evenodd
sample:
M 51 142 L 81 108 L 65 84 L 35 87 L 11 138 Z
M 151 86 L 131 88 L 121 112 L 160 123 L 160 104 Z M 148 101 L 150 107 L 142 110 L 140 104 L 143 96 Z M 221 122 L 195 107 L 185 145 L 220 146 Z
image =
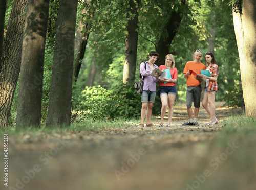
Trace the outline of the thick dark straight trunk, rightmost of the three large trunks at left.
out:
M 76 12 L 77 0 L 59 2 L 46 122 L 48 127 L 70 126 Z

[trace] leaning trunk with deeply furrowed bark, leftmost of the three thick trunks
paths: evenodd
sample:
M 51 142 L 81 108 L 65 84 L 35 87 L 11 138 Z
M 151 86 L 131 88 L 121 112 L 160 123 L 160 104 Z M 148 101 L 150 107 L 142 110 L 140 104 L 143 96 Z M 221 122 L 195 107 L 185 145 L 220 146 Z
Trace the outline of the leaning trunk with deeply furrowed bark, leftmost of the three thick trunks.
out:
M 14 0 L 3 43 L 0 77 L 0 127 L 8 126 L 22 58 L 22 40 L 27 0 Z

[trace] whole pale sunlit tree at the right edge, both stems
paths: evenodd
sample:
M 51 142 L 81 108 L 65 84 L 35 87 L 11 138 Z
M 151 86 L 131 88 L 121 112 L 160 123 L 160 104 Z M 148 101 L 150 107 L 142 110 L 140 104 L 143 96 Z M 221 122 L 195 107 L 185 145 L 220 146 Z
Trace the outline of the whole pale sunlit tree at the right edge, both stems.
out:
M 232 9 L 245 113 L 248 117 L 256 117 L 256 0 L 235 1 Z

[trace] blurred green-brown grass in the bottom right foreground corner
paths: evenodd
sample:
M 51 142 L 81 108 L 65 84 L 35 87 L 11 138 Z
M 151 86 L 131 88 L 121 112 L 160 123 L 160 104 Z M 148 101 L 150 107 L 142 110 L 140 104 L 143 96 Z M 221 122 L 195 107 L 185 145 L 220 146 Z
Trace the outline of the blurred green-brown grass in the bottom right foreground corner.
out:
M 223 124 L 216 138 L 204 143 L 207 156 L 190 171 L 182 188 L 256 189 L 256 118 L 232 116 Z

